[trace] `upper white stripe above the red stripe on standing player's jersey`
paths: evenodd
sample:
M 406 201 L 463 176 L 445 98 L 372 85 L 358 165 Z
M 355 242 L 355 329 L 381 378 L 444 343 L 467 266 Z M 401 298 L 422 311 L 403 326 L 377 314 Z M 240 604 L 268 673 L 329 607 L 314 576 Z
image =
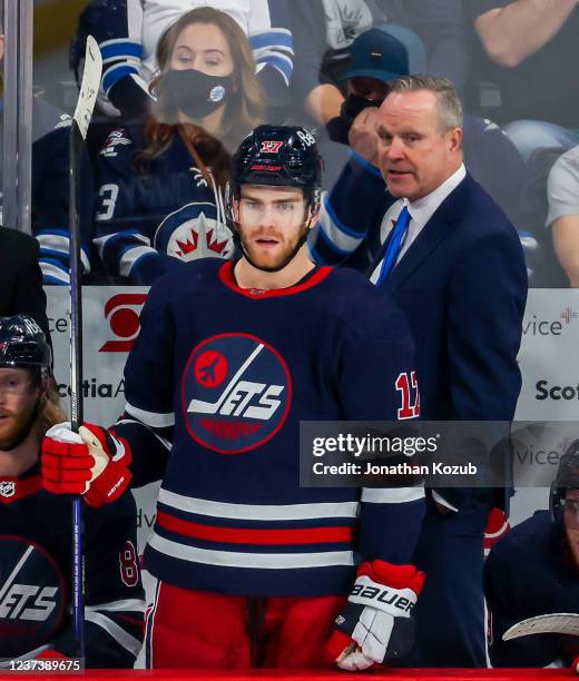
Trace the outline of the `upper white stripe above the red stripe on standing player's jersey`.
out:
M 298 521 L 322 517 L 356 517 L 357 502 L 335 502 L 323 504 L 228 504 L 224 502 L 193 499 L 159 490 L 159 502 L 179 511 L 213 517 L 228 517 L 248 521 Z

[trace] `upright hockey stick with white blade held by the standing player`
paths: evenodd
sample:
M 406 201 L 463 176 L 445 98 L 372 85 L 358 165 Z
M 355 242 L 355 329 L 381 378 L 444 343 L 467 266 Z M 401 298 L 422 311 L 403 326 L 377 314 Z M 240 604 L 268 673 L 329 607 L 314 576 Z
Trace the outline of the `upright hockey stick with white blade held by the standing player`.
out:
M 97 100 L 102 58 L 97 41 L 87 36 L 85 70 L 69 137 L 69 229 L 70 229 L 70 421 L 75 433 L 82 425 L 82 299 L 80 227 L 77 211 L 79 159 Z M 72 500 L 72 618 L 77 657 L 85 660 L 85 570 L 82 562 L 82 505 Z

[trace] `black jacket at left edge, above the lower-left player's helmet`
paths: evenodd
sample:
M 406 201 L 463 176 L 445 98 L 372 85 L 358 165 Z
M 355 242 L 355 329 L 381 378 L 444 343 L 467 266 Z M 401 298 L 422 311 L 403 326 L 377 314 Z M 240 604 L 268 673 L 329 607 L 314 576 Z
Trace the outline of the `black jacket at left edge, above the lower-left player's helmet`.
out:
M 50 343 L 38 257 L 39 246 L 33 237 L 0 227 L 0 316 L 30 315 Z

